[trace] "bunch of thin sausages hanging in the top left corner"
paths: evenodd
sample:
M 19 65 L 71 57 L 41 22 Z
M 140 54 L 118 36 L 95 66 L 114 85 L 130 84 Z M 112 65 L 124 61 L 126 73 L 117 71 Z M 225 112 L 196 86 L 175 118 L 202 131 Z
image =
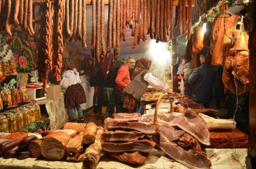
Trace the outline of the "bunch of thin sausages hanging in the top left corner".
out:
M 0 1 L 0 30 L 12 35 L 11 28 L 20 26 L 29 34 L 34 34 L 33 2 L 30 0 L 1 0 Z

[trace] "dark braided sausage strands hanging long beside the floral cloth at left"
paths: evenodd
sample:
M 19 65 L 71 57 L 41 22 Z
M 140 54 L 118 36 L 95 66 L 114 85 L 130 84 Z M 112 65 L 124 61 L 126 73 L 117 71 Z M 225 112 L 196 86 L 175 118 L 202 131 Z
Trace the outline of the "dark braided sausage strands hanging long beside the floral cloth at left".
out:
M 66 1 L 67 2 L 67 1 Z M 48 74 L 53 70 L 55 81 L 61 81 L 63 54 L 63 0 L 45 0 L 40 5 L 38 28 L 38 75 L 46 91 Z M 66 17 L 67 18 L 67 17 Z M 43 63 L 43 64 L 42 64 Z

